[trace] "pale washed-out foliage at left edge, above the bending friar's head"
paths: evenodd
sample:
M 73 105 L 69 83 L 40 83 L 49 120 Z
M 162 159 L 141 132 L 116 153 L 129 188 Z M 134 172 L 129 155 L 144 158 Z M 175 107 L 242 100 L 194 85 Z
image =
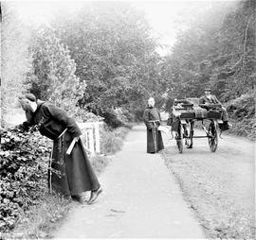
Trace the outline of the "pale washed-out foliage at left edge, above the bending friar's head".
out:
M 1 2 L 1 127 L 8 127 L 7 113 L 17 107 L 18 96 L 30 67 L 27 51 L 27 27 L 22 26 L 10 2 Z

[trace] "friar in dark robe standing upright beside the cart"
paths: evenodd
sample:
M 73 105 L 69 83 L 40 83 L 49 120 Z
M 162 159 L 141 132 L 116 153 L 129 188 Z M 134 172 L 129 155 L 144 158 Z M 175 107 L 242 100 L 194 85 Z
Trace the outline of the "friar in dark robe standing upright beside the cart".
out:
M 155 153 L 164 148 L 160 126 L 160 113 L 155 108 L 155 99 L 150 97 L 148 106 L 143 114 L 143 121 L 147 127 L 147 153 Z

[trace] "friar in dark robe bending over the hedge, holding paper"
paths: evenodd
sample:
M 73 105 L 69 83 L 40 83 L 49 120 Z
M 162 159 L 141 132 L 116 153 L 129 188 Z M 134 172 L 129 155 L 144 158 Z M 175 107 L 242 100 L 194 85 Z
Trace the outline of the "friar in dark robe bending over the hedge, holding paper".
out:
M 27 117 L 21 128 L 36 126 L 53 141 L 49 185 L 81 203 L 94 203 L 102 188 L 82 146 L 82 132 L 75 120 L 51 103 L 36 99 L 34 94 L 26 94 L 20 103 Z M 91 191 L 89 200 L 84 198 L 86 191 Z

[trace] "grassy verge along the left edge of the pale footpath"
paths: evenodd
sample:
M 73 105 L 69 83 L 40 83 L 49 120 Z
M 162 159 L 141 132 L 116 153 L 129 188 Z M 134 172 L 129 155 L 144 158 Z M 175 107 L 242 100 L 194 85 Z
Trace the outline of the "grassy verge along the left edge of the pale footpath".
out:
M 129 128 L 118 128 L 113 131 L 104 130 L 101 139 L 102 155 L 90 157 L 90 161 L 97 176 L 100 176 L 111 158 L 106 155 L 115 154 L 122 146 L 124 137 Z M 47 192 L 47 189 L 46 189 Z M 29 210 L 20 217 L 16 227 L 10 233 L 0 233 L 0 239 L 5 238 L 51 238 L 55 231 L 64 221 L 67 214 L 79 203 L 71 198 L 58 194 L 43 193 L 37 204 L 30 206 Z

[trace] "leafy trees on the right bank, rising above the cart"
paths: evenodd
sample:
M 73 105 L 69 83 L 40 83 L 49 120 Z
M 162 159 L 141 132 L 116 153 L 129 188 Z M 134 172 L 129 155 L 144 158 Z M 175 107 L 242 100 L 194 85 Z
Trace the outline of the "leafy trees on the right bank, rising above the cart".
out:
M 174 97 L 200 96 L 210 87 L 226 102 L 255 87 L 255 2 L 227 12 L 218 5 L 182 32 L 166 57 L 163 77 Z

